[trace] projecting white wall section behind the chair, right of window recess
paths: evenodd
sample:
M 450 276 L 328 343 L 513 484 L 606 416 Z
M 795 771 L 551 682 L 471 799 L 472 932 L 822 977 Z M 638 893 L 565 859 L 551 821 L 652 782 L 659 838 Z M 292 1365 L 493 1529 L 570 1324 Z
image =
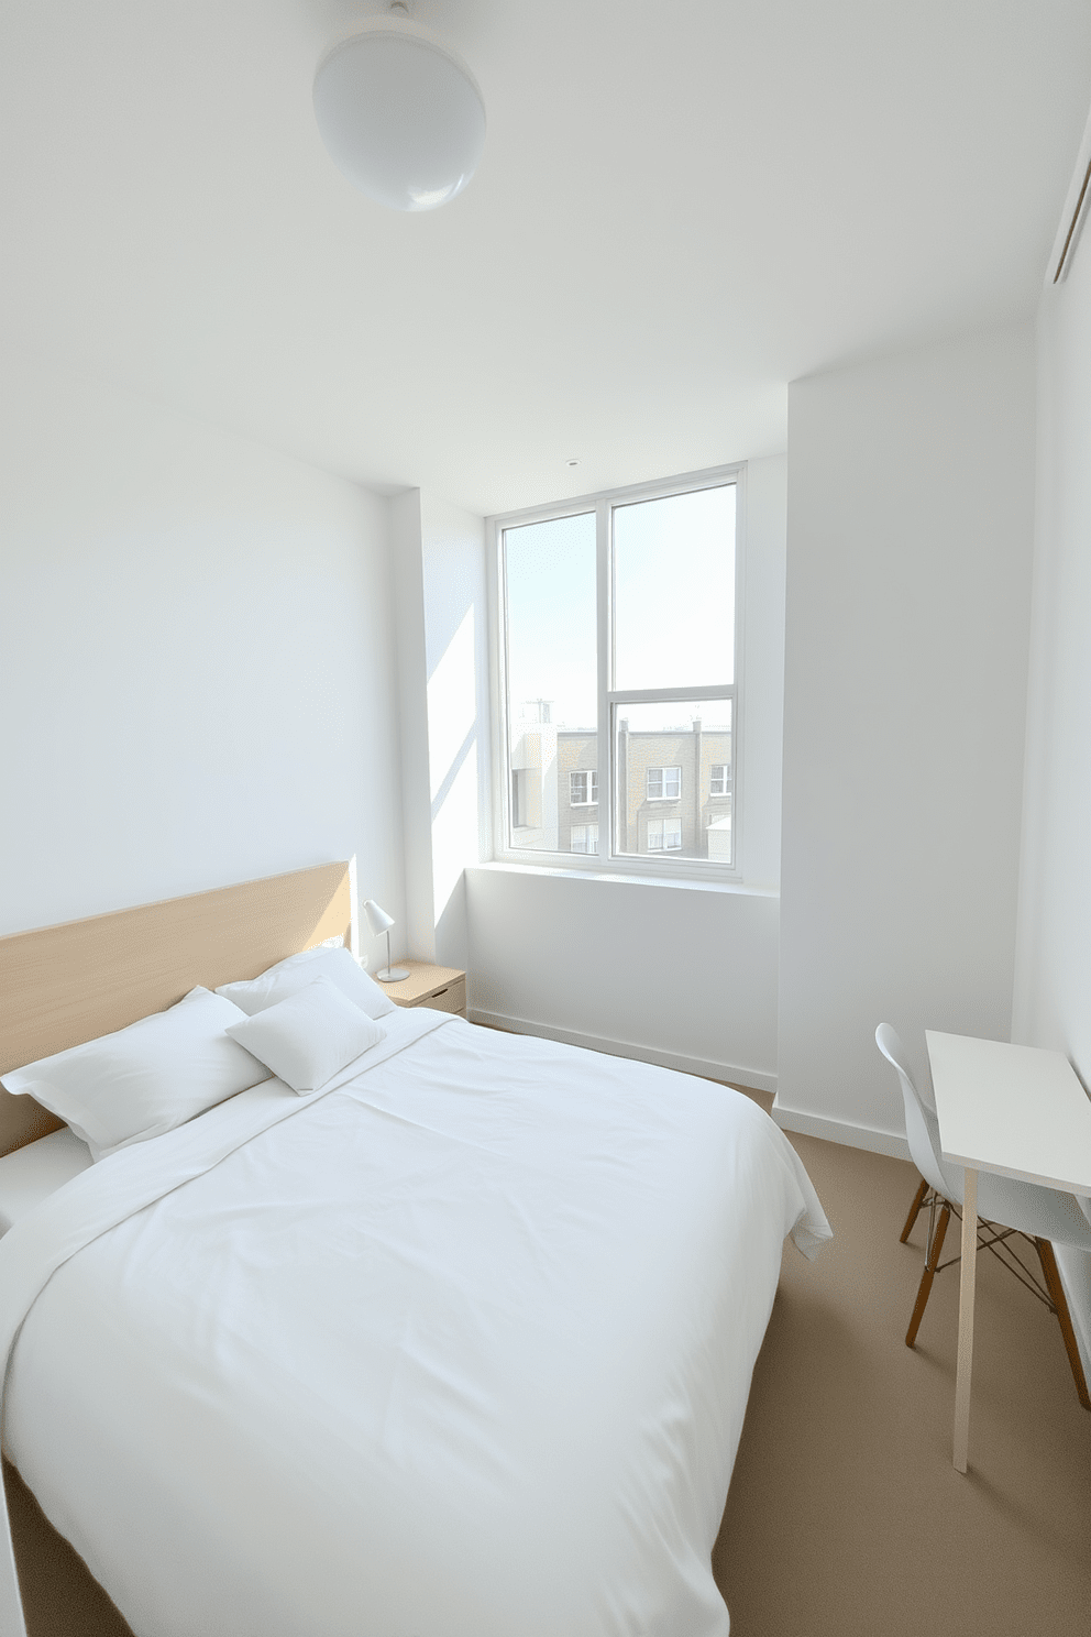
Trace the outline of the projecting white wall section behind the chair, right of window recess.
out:
M 875 1025 L 1011 1026 L 1034 336 L 797 381 L 777 1115 L 903 1149 Z

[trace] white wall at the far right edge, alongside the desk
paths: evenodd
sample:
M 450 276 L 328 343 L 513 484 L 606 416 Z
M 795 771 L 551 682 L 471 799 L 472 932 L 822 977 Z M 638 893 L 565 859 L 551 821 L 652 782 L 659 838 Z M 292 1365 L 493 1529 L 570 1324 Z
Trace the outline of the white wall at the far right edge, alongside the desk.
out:
M 1086 160 L 1084 160 L 1086 162 Z M 1012 1039 L 1091 1087 L 1091 234 L 1039 313 L 1039 517 Z M 1057 1247 L 1091 1377 L 1091 1257 Z

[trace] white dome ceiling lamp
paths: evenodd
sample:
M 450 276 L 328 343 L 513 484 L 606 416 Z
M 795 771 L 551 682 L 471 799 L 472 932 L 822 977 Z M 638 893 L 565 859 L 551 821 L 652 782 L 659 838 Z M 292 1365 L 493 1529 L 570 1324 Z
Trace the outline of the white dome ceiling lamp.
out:
M 370 18 L 319 64 L 314 115 L 337 169 L 388 210 L 456 198 L 481 159 L 481 88 L 404 0 Z

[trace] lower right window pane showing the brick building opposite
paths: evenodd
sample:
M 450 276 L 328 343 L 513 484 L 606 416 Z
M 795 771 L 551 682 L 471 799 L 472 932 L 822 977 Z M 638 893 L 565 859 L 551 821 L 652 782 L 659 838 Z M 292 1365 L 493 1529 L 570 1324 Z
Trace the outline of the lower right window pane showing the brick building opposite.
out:
M 731 699 L 615 706 L 617 851 L 733 864 Z

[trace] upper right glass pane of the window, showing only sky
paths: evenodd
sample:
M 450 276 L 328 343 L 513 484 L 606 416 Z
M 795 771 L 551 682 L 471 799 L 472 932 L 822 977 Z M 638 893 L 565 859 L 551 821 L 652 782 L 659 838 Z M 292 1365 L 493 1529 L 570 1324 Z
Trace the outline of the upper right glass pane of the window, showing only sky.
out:
M 734 681 L 734 483 L 613 507 L 613 688 Z

